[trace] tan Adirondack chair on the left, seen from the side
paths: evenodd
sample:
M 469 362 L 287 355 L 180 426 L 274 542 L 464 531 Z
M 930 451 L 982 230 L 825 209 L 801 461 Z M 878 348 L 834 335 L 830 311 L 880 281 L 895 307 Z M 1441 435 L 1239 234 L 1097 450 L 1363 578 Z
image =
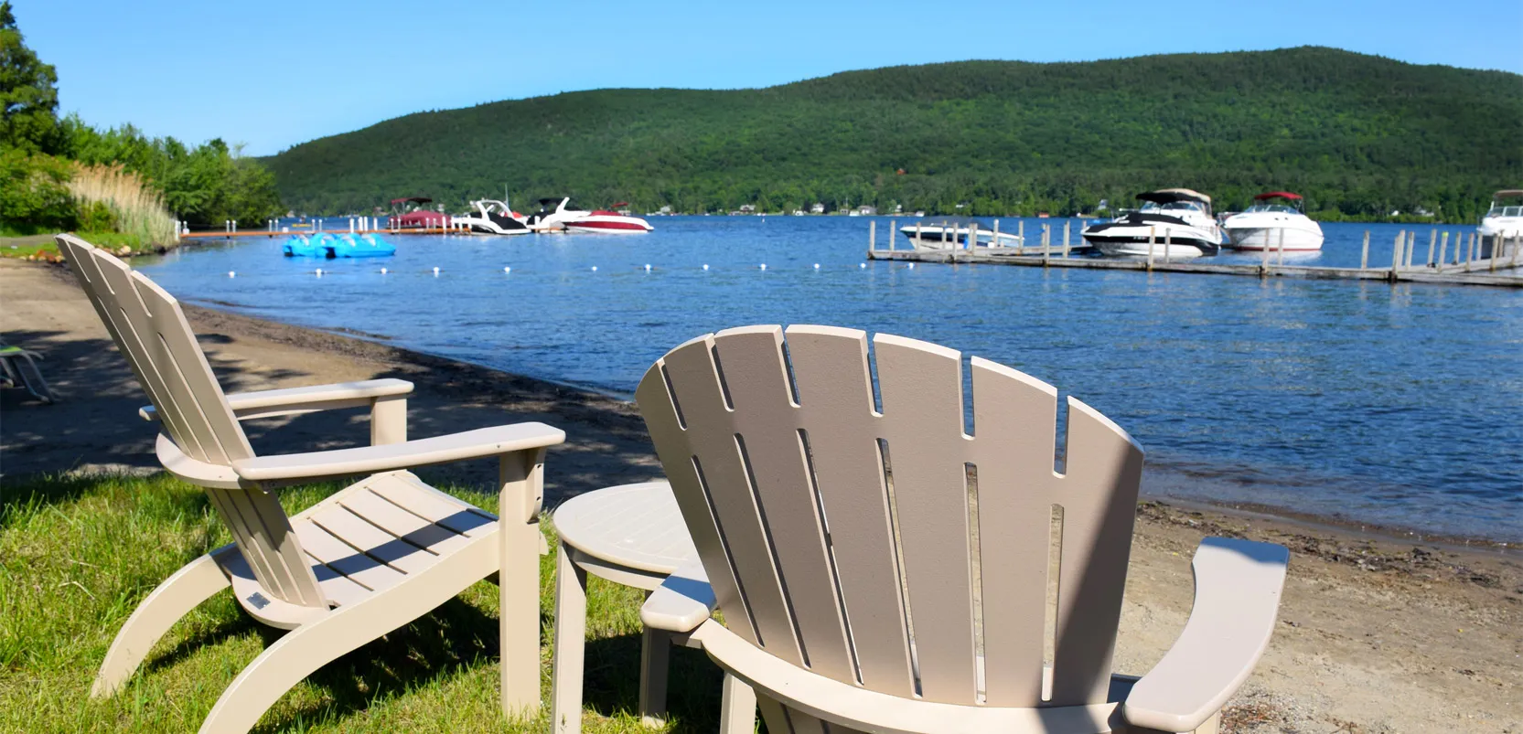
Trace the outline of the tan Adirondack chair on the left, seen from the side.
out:
M 91 694 L 108 696 L 186 612 L 231 586 L 253 618 L 288 629 L 227 687 L 203 732 L 247 731 L 286 690 L 378 637 L 498 574 L 503 708 L 539 704 L 539 553 L 544 423 L 407 440 L 411 382 L 376 379 L 224 394 L 180 305 L 140 273 L 62 235 L 58 247 L 152 401 L 158 460 L 206 489 L 233 544 L 190 562 L 133 612 Z M 372 446 L 254 455 L 239 420 L 370 407 Z M 405 469 L 500 458 L 501 519 Z M 295 516 L 280 486 L 369 475 Z M 131 550 L 123 550 L 129 553 Z

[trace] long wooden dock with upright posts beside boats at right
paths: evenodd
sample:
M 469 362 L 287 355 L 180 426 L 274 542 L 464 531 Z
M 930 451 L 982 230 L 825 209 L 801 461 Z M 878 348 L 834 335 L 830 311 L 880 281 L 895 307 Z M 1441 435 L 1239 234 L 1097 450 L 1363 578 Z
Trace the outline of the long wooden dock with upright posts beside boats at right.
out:
M 892 225 L 891 225 L 892 227 Z M 1412 263 L 1416 250 L 1416 233 L 1406 233 L 1397 238 L 1390 250 L 1389 268 L 1371 268 L 1369 265 L 1369 233 L 1365 233 L 1365 251 L 1360 257 L 1362 268 L 1330 268 L 1316 265 L 1285 265 L 1284 253 L 1264 251 L 1258 263 L 1212 263 L 1188 260 L 1167 260 L 1159 257 L 1090 257 L 1074 256 L 1068 242 L 1068 227 L 1063 231 L 1063 245 L 1052 244 L 1051 231 L 1043 227 L 1042 245 L 1037 247 L 978 247 L 969 251 L 966 245 L 956 248 L 909 248 L 894 247 L 896 230 L 889 228 L 889 247 L 877 247 L 877 224 L 868 227 L 870 260 L 902 260 L 902 262 L 934 262 L 934 263 L 967 263 L 967 265 L 1019 265 L 1027 268 L 1080 268 L 1080 270 L 1133 270 L 1144 273 L 1196 273 L 1203 276 L 1247 276 L 1247 277 L 1304 277 L 1319 280 L 1384 280 L 1387 283 L 1445 283 L 1445 285 L 1486 285 L 1497 288 L 1523 288 L 1523 241 L 1503 242 L 1493 248 L 1493 257 L 1477 257 L 1483 253 L 1474 239 L 1465 253 L 1459 242 L 1454 247 L 1454 262 L 1445 262 L 1444 251 L 1435 257 L 1433 247 L 1424 260 Z M 914 242 L 914 239 L 911 239 Z M 1444 242 L 1448 242 L 1445 233 Z M 1161 248 L 1162 250 L 1162 248 Z

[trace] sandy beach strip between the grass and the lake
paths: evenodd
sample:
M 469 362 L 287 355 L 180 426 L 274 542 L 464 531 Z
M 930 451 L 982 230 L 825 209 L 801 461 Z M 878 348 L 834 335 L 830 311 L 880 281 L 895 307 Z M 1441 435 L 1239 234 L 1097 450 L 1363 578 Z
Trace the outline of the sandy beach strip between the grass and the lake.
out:
M 547 460 L 547 504 L 661 475 L 623 401 L 355 338 L 186 306 L 227 391 L 372 378 L 416 384 L 410 436 L 518 420 L 564 428 Z M 59 393 L 41 405 L 0 391 L 0 478 L 38 472 L 151 472 L 146 404 L 67 268 L 0 260 L 0 332 L 44 355 Z M 358 445 L 362 413 L 248 425 L 259 452 Z M 279 429 L 279 431 L 277 431 Z M 423 472 L 487 484 L 495 464 Z M 9 501 L 9 498 L 6 498 Z M 1144 503 L 1138 510 L 1118 672 L 1141 675 L 1183 627 L 1189 556 L 1208 535 L 1292 550 L 1269 653 L 1231 702 L 1229 731 L 1523 732 L 1523 557 L 1413 545 L 1301 519 Z

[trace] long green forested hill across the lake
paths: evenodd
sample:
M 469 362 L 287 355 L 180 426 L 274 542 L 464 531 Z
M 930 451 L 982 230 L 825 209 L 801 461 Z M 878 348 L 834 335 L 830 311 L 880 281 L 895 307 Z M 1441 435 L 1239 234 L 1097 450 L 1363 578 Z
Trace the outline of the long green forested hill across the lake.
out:
M 299 212 L 426 195 L 606 206 L 1089 212 L 1188 186 L 1323 218 L 1473 219 L 1523 184 L 1523 76 L 1337 49 L 847 72 L 760 90 L 595 90 L 419 113 L 267 158 Z M 964 209 L 966 212 L 967 209 Z

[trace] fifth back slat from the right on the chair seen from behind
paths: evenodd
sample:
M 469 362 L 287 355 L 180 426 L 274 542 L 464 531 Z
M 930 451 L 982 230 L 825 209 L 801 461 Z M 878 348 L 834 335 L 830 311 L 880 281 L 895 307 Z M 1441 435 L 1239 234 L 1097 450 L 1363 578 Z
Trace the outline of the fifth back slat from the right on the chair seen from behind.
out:
M 714 337 L 714 353 L 733 407 L 726 417 L 742 442 L 800 655 L 819 675 L 856 682 L 807 443 L 783 359 L 783 330 L 726 330 Z

